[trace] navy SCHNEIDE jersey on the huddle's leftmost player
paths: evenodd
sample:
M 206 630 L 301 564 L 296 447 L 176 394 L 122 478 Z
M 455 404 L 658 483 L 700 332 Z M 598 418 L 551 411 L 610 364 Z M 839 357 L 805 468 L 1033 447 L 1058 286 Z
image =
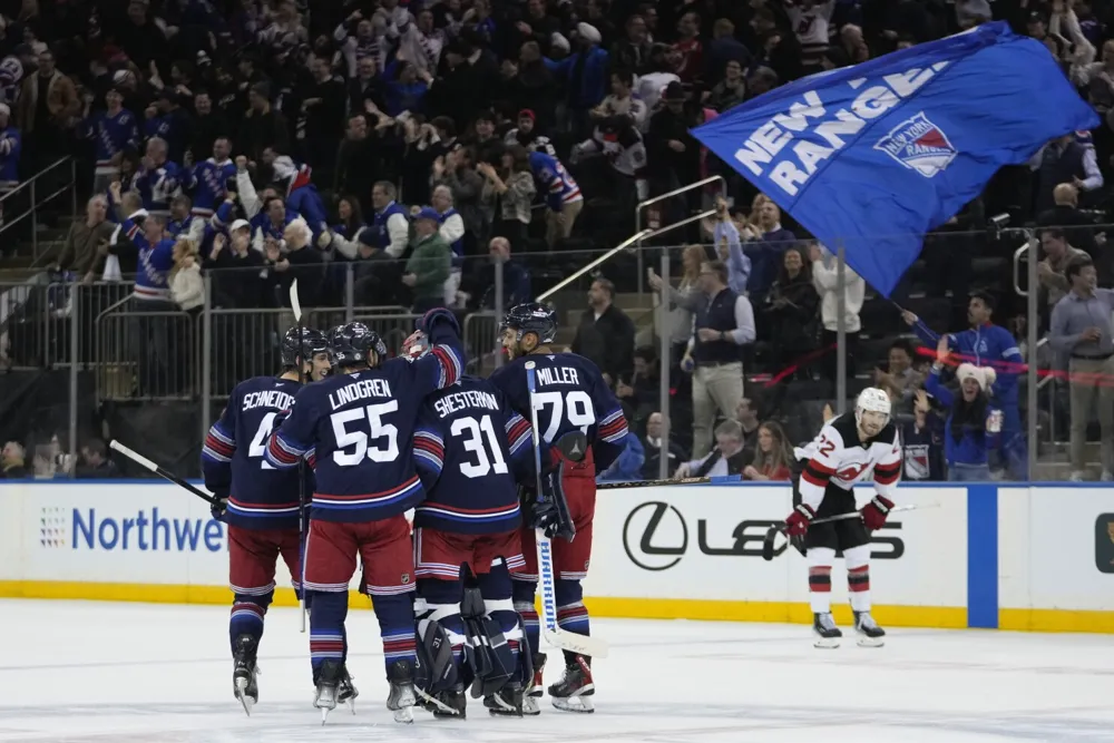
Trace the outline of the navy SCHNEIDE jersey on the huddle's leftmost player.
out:
M 297 527 L 297 472 L 277 470 L 264 458 L 275 418 L 289 409 L 301 384 L 253 377 L 237 384 L 221 420 L 202 448 L 205 487 L 228 498 L 224 520 L 248 529 Z M 306 468 L 306 492 L 313 475 Z

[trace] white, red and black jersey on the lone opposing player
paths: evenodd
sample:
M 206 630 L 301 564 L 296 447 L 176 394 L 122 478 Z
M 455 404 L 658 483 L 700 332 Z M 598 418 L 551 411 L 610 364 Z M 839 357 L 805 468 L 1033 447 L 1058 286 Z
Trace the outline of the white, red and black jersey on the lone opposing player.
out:
M 813 509 L 820 508 L 829 485 L 851 490 L 857 483 L 872 478 L 878 495 L 890 498 L 901 476 L 901 441 L 897 427 L 888 423 L 878 436 L 862 443 L 854 413 L 843 413 L 828 421 L 799 457 L 808 457 L 799 486 L 801 500 Z

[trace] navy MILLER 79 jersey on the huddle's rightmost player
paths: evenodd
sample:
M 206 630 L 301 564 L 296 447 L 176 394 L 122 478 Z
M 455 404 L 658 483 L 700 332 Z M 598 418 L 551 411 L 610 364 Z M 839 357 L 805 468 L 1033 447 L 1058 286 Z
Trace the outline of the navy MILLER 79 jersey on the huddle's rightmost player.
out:
M 491 374 L 515 412 L 530 420 L 526 362 L 537 364 L 538 429 L 546 443 L 580 430 L 592 444 L 596 471 L 603 472 L 623 452 L 627 434 L 623 408 L 596 364 L 575 353 L 530 354 Z

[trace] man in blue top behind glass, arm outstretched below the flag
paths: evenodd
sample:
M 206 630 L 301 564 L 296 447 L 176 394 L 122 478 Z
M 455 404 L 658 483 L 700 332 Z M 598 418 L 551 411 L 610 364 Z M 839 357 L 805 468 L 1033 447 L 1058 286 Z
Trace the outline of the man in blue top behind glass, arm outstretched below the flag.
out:
M 989 390 L 994 404 L 1001 410 L 1003 421 L 1001 434 L 996 437 L 1000 449 L 993 463 L 997 465 L 1000 461 L 1012 478 L 1024 480 L 1028 476 L 1028 453 L 1025 430 L 1022 427 L 1022 413 L 1017 404 L 1017 379 L 1025 371 L 1025 359 L 1009 331 L 991 324 L 994 305 L 994 297 L 989 293 L 973 292 L 967 306 L 970 330 L 949 333 L 944 338 L 948 341 L 948 348 L 959 355 L 960 361 L 977 366 L 994 368 L 996 374 Z M 917 315 L 903 311 L 901 316 L 921 341 L 936 345 L 940 336 L 920 322 Z

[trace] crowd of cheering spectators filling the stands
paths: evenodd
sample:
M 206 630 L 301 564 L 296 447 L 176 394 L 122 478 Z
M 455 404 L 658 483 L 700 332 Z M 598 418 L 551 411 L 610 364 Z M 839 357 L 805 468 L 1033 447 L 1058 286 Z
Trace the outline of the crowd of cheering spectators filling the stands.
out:
M 919 390 L 931 378 L 936 334 L 929 319 L 906 312 L 907 332 L 927 353 L 902 343 L 862 349 L 861 335 L 878 338 L 862 280 L 847 271 L 840 297 L 831 246 L 809 241 L 691 129 L 803 75 L 991 18 L 1044 42 L 1106 115 L 1112 13 L 1098 0 L 0 3 L 0 193 L 60 156 L 78 157 L 90 198 L 56 267 L 88 284 L 135 275 L 138 310 L 197 311 L 204 276 L 216 306 L 281 306 L 294 278 L 303 303 L 336 306 L 350 275 L 358 305 L 468 310 L 492 305 L 492 264 L 504 267 L 505 304 L 525 300 L 536 294 L 532 266 L 609 246 L 633 232 L 638 201 L 722 175 L 725 199 L 693 190 L 651 215 L 668 223 L 716 209 L 686 236 L 702 245 L 675 262 L 675 276 L 648 275 L 673 307 L 658 329 L 671 358 L 635 350 L 636 329 L 614 303 L 631 278 L 606 266 L 573 349 L 597 359 L 631 405 L 642 467 L 662 457 L 653 391 L 668 374 L 692 417 L 682 427 L 691 446 L 687 437 L 682 450 L 670 443 L 671 470 L 727 462 L 754 479 L 781 477 L 798 438 L 772 417 L 779 388 L 834 379 L 840 304 L 851 373 L 890 389 L 925 430 L 931 417 L 922 419 Z M 1108 319 L 1081 319 L 1089 316 L 1089 276 L 1114 277 L 1095 226 L 1114 156 L 1108 119 L 1004 169 L 926 236 L 920 283 L 900 287 L 898 303 L 918 292 L 944 299 L 942 320 L 929 323 L 940 331 L 970 322 L 978 335 L 991 312 L 1018 330 L 1017 297 L 1000 276 L 995 292 L 978 295 L 981 314 L 968 305 L 983 280 L 971 256 L 1012 253 L 1008 235 L 988 229 L 988 215 L 1006 213 L 1015 226 L 1045 227 L 1042 333 L 1052 323 L 1051 345 L 1073 366 L 1108 373 Z M 535 256 L 543 262 L 527 260 Z M 1084 311 L 1061 310 L 1065 301 Z M 1093 301 L 1108 302 L 1102 292 Z M 157 341 L 159 326 L 140 332 Z M 1016 342 L 999 349 L 1012 350 Z M 760 371 L 776 384 L 758 402 L 749 389 L 744 397 L 743 380 Z M 991 395 L 1006 408 L 1001 438 L 1019 430 L 1016 373 L 985 385 L 998 394 L 1008 379 L 1015 397 Z M 1093 390 L 1101 405 L 1114 402 L 1108 389 Z M 1073 411 L 1087 395 L 1073 389 Z M 672 411 L 674 432 L 684 414 Z M 1081 427 L 1073 418 L 1073 442 Z M 1104 442 L 1111 436 L 1104 428 Z M 1015 458 L 1017 446 L 1006 447 Z M 743 463 L 741 450 L 755 453 Z M 634 461 L 624 467 L 637 469 Z

